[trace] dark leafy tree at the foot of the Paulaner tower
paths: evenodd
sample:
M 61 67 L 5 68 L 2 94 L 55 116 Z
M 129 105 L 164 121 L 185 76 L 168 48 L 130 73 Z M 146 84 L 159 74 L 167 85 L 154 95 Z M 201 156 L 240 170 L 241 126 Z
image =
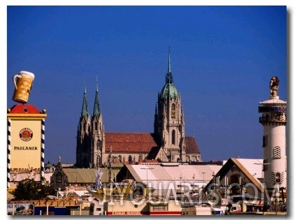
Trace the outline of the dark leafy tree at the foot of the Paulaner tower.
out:
M 50 184 L 43 184 L 34 179 L 24 179 L 17 185 L 13 192 L 14 200 L 41 200 L 53 193 Z

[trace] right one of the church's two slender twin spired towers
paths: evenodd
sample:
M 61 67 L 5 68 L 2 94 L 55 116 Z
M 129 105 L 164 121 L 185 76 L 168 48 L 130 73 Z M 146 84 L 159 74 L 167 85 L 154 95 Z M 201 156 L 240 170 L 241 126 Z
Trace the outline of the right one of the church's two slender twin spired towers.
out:
M 92 149 L 91 164 L 92 167 L 99 167 L 103 162 L 103 152 L 105 152 L 105 133 L 102 114 L 99 105 L 98 80 L 96 80 L 96 93 L 94 101 L 94 110 L 92 115 Z

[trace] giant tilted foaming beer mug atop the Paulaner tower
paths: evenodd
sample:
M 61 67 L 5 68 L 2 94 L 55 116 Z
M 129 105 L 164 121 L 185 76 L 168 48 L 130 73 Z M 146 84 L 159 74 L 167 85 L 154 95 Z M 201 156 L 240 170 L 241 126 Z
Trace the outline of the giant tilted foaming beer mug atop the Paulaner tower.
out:
M 34 74 L 27 71 L 20 71 L 19 74 L 13 76 L 13 84 L 15 85 L 13 101 L 27 103 L 33 80 Z

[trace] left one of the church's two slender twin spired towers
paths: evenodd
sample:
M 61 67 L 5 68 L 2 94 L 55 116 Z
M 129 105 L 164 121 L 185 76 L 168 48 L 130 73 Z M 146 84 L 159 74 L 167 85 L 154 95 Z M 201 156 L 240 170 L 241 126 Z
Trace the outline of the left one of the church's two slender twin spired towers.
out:
M 91 118 L 87 108 L 87 88 L 85 86 L 84 96 L 82 99 L 82 112 L 80 113 L 80 122 L 76 136 L 76 166 L 78 168 L 88 168 L 90 163 L 90 133 Z

